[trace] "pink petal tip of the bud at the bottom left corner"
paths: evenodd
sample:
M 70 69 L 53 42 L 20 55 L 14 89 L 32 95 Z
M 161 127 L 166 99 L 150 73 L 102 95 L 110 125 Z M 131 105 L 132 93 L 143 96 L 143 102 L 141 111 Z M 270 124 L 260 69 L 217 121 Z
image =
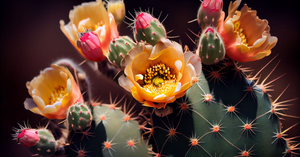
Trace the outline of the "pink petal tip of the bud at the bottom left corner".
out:
M 38 131 L 35 129 L 23 129 L 17 136 L 17 142 L 23 146 L 34 146 L 39 141 Z

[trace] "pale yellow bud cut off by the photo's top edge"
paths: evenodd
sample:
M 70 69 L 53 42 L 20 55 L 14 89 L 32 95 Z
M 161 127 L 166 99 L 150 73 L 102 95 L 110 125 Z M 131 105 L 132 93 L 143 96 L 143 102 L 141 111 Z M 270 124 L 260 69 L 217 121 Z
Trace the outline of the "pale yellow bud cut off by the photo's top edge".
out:
M 106 5 L 107 11 L 113 14 L 116 24 L 122 23 L 125 19 L 125 4 L 123 0 L 110 0 Z

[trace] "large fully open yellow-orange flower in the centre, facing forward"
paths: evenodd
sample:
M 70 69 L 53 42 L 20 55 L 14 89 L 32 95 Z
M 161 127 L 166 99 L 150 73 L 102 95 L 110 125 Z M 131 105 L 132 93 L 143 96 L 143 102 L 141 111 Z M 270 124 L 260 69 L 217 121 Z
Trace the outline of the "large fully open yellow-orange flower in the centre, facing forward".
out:
M 119 84 L 143 105 L 158 109 L 182 97 L 202 67 L 198 55 L 183 53 L 180 44 L 168 39 L 154 47 L 139 42 L 121 66 L 126 77 L 119 77 Z

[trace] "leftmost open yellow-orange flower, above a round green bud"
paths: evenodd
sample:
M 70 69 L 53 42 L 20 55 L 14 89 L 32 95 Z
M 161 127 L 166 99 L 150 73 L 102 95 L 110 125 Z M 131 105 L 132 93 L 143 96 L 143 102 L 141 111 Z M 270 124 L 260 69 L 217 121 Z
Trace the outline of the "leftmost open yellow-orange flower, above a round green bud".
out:
M 67 68 L 51 65 L 26 83 L 31 98 L 24 106 L 33 113 L 49 119 L 66 118 L 67 108 L 75 102 L 83 102 L 79 87 Z

